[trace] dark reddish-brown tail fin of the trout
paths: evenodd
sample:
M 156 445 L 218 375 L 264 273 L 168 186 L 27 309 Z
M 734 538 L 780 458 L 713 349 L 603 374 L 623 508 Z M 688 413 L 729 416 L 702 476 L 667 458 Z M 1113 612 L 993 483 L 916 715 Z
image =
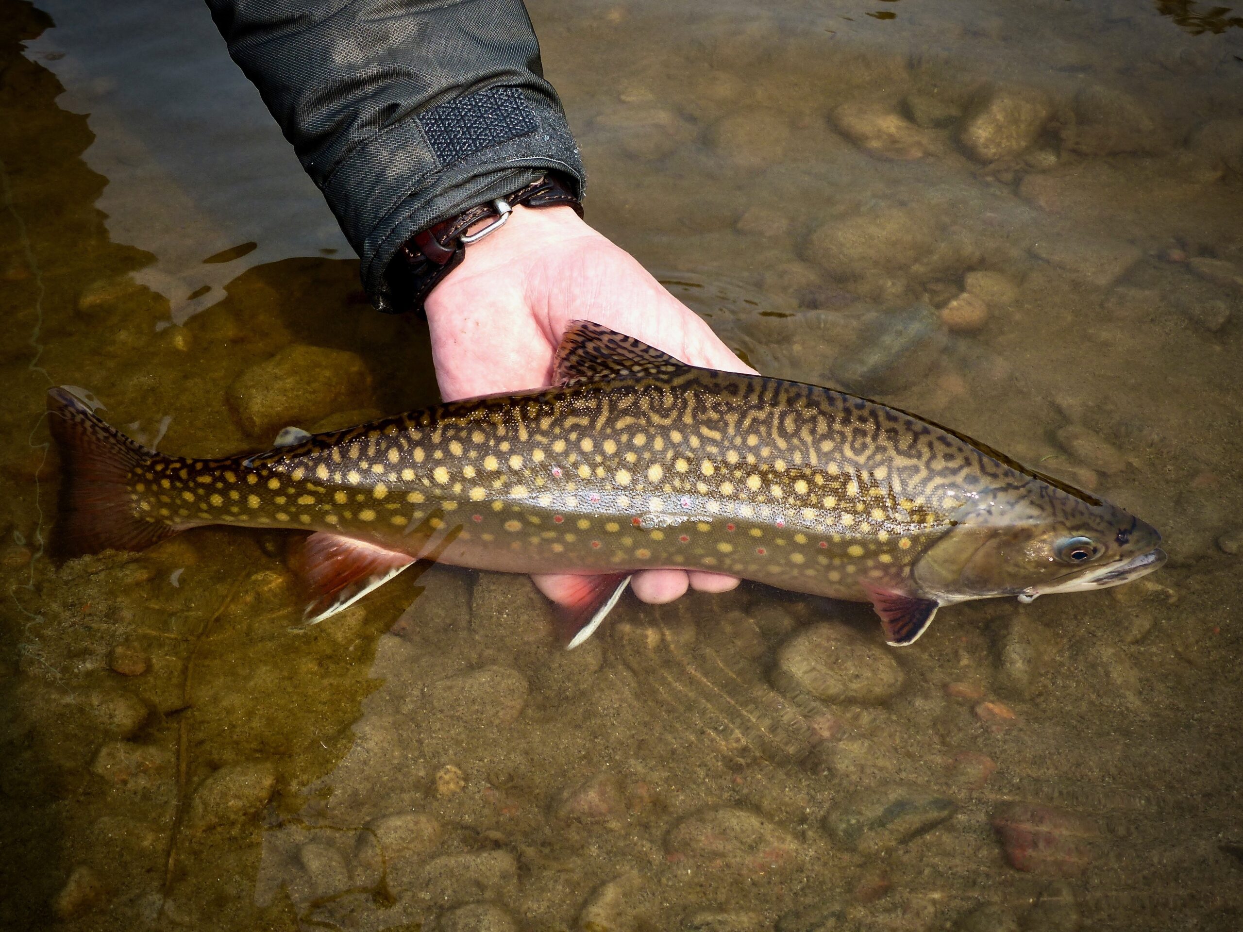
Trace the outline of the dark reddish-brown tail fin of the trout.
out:
M 62 465 L 53 538 L 60 555 L 142 551 L 177 533 L 135 487 L 154 452 L 109 427 L 62 388 L 47 393 L 47 413 Z

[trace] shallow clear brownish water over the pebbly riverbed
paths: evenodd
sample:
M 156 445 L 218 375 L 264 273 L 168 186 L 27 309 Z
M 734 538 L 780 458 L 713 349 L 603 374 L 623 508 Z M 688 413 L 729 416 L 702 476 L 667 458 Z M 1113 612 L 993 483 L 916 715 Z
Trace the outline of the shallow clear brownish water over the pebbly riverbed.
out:
M 226 390 L 291 344 L 370 372 L 321 423 L 435 398 L 206 11 L 46 9 L 0 4 L 0 925 L 1239 927 L 1238 10 L 532 4 L 588 219 L 731 345 L 1171 554 L 896 652 L 868 606 L 745 584 L 566 654 L 521 578 L 411 570 L 307 630 L 280 534 L 44 553 L 48 385 L 199 456 L 261 440 Z M 998 92 L 1039 113 L 1001 154 Z M 815 624 L 854 686 L 792 705 Z

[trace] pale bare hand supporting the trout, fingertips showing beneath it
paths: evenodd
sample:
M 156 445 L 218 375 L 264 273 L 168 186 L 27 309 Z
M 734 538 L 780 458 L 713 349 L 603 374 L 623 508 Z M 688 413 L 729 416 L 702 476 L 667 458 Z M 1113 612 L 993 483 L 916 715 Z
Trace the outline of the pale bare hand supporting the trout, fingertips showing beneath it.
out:
M 681 359 L 755 372 L 629 254 L 567 206 L 515 208 L 508 222 L 466 250 L 425 302 L 436 381 L 446 401 L 552 384 L 553 357 L 571 321 L 594 321 Z M 574 577 L 538 574 L 536 585 L 568 601 Z M 665 603 L 689 587 L 721 593 L 721 573 L 645 569 L 635 595 Z

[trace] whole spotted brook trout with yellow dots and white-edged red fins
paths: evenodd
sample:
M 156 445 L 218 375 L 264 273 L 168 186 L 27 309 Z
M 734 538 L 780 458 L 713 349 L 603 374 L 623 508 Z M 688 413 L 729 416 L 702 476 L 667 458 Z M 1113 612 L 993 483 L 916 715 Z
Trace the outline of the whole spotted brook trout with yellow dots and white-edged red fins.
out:
M 942 606 L 1094 592 L 1166 559 L 1126 511 L 858 395 L 687 365 L 585 321 L 553 383 L 210 460 L 148 450 L 52 389 L 56 543 L 75 557 L 205 524 L 302 531 L 288 562 L 308 623 L 420 559 L 571 574 L 569 646 L 648 568 L 871 603 L 907 646 Z

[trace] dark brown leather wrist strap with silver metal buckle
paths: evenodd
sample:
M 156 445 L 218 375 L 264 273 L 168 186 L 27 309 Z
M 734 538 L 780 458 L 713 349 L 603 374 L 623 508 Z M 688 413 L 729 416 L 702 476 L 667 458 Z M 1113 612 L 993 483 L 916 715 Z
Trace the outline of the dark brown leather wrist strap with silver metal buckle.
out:
M 583 205 L 569 185 L 556 174 L 547 174 L 513 194 L 480 204 L 416 232 L 398 247 L 389 265 L 388 283 L 398 307 L 384 309 L 418 311 L 421 314 L 423 302 L 431 290 L 461 265 L 469 245 L 464 237 L 470 239 L 471 227 L 485 220 L 492 220 L 495 226 L 500 226 L 507 219 L 510 209 L 518 204 L 527 208 L 566 204 L 579 216 L 583 215 Z

